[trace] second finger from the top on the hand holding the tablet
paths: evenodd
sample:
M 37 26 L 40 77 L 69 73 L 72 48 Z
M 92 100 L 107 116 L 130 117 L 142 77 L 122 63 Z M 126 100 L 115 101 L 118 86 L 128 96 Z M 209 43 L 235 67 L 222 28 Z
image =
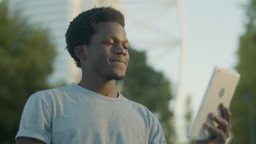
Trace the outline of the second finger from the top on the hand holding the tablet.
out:
M 228 121 L 226 121 L 226 119 L 214 114 L 214 113 L 210 113 L 209 117 L 215 121 L 216 123 L 218 123 L 219 128 L 223 131 L 229 131 L 229 123 Z

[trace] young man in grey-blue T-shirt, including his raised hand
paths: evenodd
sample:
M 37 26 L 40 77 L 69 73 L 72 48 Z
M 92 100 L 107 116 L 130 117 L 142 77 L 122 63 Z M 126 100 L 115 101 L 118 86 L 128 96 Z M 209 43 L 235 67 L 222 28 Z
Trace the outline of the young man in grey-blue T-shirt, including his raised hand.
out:
M 66 43 L 82 69 L 82 80 L 31 95 L 16 135 L 18 144 L 166 143 L 156 116 L 115 89 L 115 80 L 125 77 L 129 62 L 124 26 L 123 14 L 110 7 L 75 17 Z M 228 116 L 229 111 L 223 110 Z M 215 141 L 228 137 L 230 117 L 224 118 L 214 117 L 220 129 L 209 128 Z

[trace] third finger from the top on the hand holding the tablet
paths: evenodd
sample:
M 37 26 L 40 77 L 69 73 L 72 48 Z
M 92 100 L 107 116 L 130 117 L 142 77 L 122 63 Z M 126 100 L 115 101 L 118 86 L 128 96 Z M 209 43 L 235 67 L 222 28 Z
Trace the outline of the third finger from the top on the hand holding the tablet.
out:
M 209 123 L 205 123 L 204 126 L 209 131 L 209 133 L 216 136 L 216 139 L 214 139 L 212 142 L 216 142 L 216 141 L 219 142 L 219 141 L 226 140 L 226 135 L 225 135 L 224 131 L 213 127 L 213 125 L 210 125 Z

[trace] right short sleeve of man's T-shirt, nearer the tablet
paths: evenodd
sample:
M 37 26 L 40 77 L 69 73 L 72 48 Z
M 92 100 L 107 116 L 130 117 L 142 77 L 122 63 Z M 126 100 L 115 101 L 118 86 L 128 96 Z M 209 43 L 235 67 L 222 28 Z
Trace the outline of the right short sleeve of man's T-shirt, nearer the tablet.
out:
M 152 125 L 149 132 L 149 143 L 150 144 L 166 144 L 165 135 L 162 131 L 161 124 L 158 118 L 153 114 Z

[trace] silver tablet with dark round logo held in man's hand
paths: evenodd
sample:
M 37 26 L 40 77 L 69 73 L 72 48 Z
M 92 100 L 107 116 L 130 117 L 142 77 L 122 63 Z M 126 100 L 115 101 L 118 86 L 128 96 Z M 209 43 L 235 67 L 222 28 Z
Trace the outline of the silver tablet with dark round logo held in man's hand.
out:
M 208 115 L 212 112 L 222 116 L 219 104 L 223 103 L 226 107 L 229 107 L 239 79 L 240 74 L 219 66 L 214 68 L 207 91 L 188 131 L 189 139 L 210 139 L 211 135 L 203 127 L 203 124 L 208 122 L 214 127 L 218 127 L 217 123 L 213 122 Z

